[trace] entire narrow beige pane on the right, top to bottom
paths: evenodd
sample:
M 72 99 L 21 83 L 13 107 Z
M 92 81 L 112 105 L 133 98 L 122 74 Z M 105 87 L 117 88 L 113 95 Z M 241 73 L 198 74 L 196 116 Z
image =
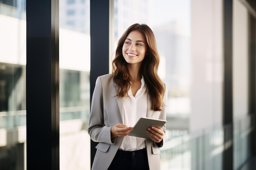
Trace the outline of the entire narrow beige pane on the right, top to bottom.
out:
M 233 1 L 233 166 L 240 168 L 251 156 L 249 133 L 249 19 L 246 7 Z

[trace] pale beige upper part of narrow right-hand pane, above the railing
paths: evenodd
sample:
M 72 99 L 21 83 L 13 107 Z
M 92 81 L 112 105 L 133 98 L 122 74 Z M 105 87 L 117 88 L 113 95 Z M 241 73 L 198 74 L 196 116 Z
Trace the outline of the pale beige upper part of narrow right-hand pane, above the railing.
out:
M 233 3 L 233 97 L 234 118 L 248 114 L 248 11 L 239 1 Z

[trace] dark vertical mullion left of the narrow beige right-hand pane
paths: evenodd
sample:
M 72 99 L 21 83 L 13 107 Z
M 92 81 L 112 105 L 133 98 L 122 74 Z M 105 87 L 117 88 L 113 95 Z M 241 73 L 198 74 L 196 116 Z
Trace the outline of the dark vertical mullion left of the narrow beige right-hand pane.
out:
M 224 49 L 224 87 L 223 87 L 223 127 L 224 150 L 222 169 L 233 169 L 233 0 L 223 1 L 223 49 Z

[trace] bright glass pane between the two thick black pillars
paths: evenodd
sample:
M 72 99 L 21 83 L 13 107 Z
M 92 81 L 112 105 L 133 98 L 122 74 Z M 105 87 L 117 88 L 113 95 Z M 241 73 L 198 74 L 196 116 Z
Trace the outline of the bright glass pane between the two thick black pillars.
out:
M 59 1 L 60 170 L 90 170 L 90 0 Z

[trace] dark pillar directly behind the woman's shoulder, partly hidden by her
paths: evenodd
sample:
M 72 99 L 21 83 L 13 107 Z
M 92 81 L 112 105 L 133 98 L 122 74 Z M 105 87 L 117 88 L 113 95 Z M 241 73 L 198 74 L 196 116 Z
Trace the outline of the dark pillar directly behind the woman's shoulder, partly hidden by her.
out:
M 109 1 L 90 1 L 91 70 L 90 99 L 99 75 L 109 72 Z M 97 143 L 91 141 L 91 165 Z

